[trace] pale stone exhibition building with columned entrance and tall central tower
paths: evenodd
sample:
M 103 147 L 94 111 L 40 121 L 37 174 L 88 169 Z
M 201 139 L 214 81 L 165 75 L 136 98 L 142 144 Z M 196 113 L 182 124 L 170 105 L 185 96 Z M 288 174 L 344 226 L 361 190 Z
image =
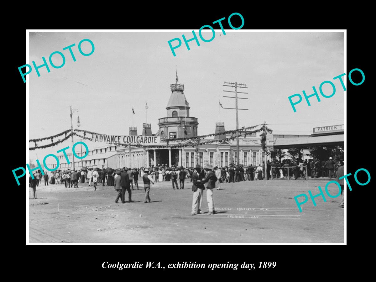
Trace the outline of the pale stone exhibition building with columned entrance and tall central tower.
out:
M 159 165 L 179 165 L 183 167 L 195 167 L 211 164 L 213 166 L 228 166 L 229 164 L 258 165 L 262 164 L 265 153 L 261 148 L 261 136 L 259 134 L 247 134 L 242 132 L 239 138 L 239 156 L 237 156 L 236 140 L 222 141 L 231 135 L 215 135 L 212 139 L 201 139 L 201 142 L 209 141 L 210 144 L 197 145 L 195 139 L 198 135 L 198 120 L 190 117 L 190 106 L 184 94 L 184 85 L 170 85 L 171 95 L 166 106 L 166 117 L 158 119 L 159 130 L 155 134 L 161 137 L 156 147 L 130 147 L 119 146 L 117 151 L 117 167 L 151 167 Z M 144 124 L 145 126 L 145 124 Z M 150 127 L 150 124 L 148 124 Z M 224 123 L 215 124 L 215 133 L 224 132 Z M 145 132 L 145 128 L 143 132 Z M 167 146 L 164 138 L 188 138 L 184 141 L 170 141 L 169 145 L 184 146 L 171 148 Z M 273 147 L 272 135 L 267 135 L 267 145 Z M 160 146 L 164 146 L 161 148 Z M 268 158 L 270 159 L 270 158 Z

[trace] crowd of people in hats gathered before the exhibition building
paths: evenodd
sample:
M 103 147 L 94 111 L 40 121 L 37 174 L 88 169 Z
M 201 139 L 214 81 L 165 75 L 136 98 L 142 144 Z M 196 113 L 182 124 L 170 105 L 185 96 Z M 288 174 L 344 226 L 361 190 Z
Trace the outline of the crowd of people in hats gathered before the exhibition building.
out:
M 309 166 L 307 160 L 303 162 L 301 159 L 298 161 L 284 160 L 284 162 L 274 162 L 271 163 L 267 161 L 267 179 L 271 177 L 284 178 L 287 176 L 287 171 L 291 170 L 291 176 L 294 175 L 295 179 L 298 177 L 306 177 L 306 170 L 304 166 Z M 335 177 L 334 174 L 334 161 L 329 158 L 326 162 L 326 167 L 329 170 L 329 176 Z M 117 191 L 117 197 L 115 203 L 121 199 L 122 203 L 125 202 L 125 193 L 128 192 L 128 200 L 132 201 L 132 190 L 139 190 L 138 179 L 141 177 L 144 183 L 145 199 L 144 203 L 150 202 L 150 185 L 156 182 L 170 182 L 172 183 L 172 188 L 184 189 L 185 179 L 190 179 L 193 182 L 193 203 L 192 203 L 192 215 L 201 212 L 202 204 L 202 193 L 203 190 L 207 190 L 206 198 L 208 201 L 209 214 L 215 214 L 214 200 L 212 189 L 221 189 L 221 183 L 233 183 L 241 181 L 253 181 L 262 180 L 265 178 L 264 175 L 265 164 L 261 166 L 249 165 L 244 167 L 243 165 L 233 165 L 230 164 L 228 167 L 213 167 L 212 165 L 206 165 L 202 168 L 197 165 L 195 168 L 184 168 L 179 166 L 167 167 L 167 165 L 161 165 L 157 167 L 150 168 L 81 168 L 78 170 L 57 170 L 53 172 L 36 171 L 33 176 L 30 176 L 29 186 L 33 188 L 33 198 L 36 199 L 36 187 L 44 179 L 44 185 L 49 184 L 62 184 L 64 182 L 65 188 L 78 187 L 78 183 L 88 183 L 89 186 L 93 185 L 94 190 L 97 190 L 97 183 L 101 183 L 103 186 L 114 186 Z M 271 169 L 273 168 L 273 169 Z M 343 170 L 343 166 L 341 167 Z M 338 169 L 339 170 L 339 169 Z M 341 172 L 341 171 L 339 171 Z M 338 174 L 338 171 L 337 171 Z M 338 177 L 338 175 L 337 175 Z M 179 179 L 179 185 L 177 183 Z M 206 185 L 204 185 L 206 183 Z M 133 185 L 134 184 L 134 185 Z M 342 183 L 343 184 L 343 183 Z

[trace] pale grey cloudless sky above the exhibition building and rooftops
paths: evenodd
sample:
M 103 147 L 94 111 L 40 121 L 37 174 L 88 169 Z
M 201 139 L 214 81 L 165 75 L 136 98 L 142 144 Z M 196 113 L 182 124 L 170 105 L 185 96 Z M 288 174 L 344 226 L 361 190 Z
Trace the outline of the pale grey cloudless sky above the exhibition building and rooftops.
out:
M 211 31 L 204 32 L 210 38 Z M 137 126 L 138 135 L 142 124 L 152 124 L 152 132 L 158 131 L 158 118 L 166 117 L 170 83 L 184 84 L 184 94 L 190 103 L 190 116 L 198 118 L 198 134 L 214 133 L 215 123 L 222 121 L 225 129 L 236 128 L 233 90 L 224 82 L 239 82 L 248 89 L 239 91 L 239 126 L 253 126 L 266 121 L 275 134 L 311 134 L 312 128 L 344 123 L 344 92 L 340 82 L 333 77 L 344 70 L 343 32 L 245 32 L 244 30 L 215 30 L 211 42 L 203 42 L 196 30 L 200 46 L 189 42 L 187 50 L 182 34 L 192 38 L 191 31 L 184 32 L 30 32 L 29 62 L 48 62 L 52 52 L 65 55 L 61 68 L 39 68 L 37 76 L 33 69 L 27 75 L 29 83 L 29 138 L 43 138 L 70 129 L 70 108 L 73 128 L 107 135 L 128 135 L 130 126 Z M 94 53 L 82 56 L 78 43 L 90 39 Z M 180 38 L 182 45 L 173 56 L 167 41 Z M 74 62 L 68 50 L 71 44 L 76 57 Z M 177 44 L 176 42 L 172 43 Z M 89 53 L 91 45 L 82 43 L 82 51 Z M 60 65 L 59 55 L 52 57 Z M 313 94 L 312 86 L 319 91 L 320 83 L 329 80 L 336 92 L 331 98 L 320 95 L 309 99 L 308 106 L 302 91 Z M 345 83 L 346 83 L 346 79 Z M 229 88 L 229 89 L 228 89 Z M 329 84 L 323 86 L 326 95 L 331 94 Z M 288 96 L 299 93 L 303 101 L 293 111 Z M 229 95 L 230 94 L 230 95 Z M 132 114 L 132 107 L 135 114 Z M 132 117 L 133 115 L 133 117 Z M 133 118 L 133 119 L 132 119 Z M 56 141 L 56 139 L 55 139 Z M 79 141 L 75 137 L 75 142 Z M 38 145 L 50 141 L 38 142 Z M 104 145 L 85 141 L 89 149 Z M 72 147 L 71 139 L 54 147 L 30 151 L 29 158 L 41 161 L 50 153 L 64 147 Z M 30 147 L 34 147 L 30 143 Z M 77 148 L 77 152 L 79 147 Z M 68 151 L 69 152 L 69 151 Z

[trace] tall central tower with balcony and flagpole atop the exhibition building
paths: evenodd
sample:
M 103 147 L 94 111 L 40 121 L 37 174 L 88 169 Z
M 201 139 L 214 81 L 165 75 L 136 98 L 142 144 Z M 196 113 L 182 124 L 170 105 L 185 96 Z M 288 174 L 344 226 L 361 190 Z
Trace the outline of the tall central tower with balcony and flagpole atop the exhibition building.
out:
M 184 95 L 184 84 L 171 84 L 167 103 L 167 117 L 159 118 L 159 135 L 164 138 L 193 138 L 197 136 L 197 118 L 190 117 L 190 106 Z

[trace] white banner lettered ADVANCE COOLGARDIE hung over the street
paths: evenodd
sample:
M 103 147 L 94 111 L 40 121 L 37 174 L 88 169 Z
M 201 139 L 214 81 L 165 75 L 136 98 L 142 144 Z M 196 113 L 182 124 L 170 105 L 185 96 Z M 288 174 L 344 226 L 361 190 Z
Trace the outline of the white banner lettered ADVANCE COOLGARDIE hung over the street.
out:
M 94 134 L 94 142 L 145 144 L 152 145 L 160 142 L 160 136 L 129 136 L 129 135 L 99 135 Z

